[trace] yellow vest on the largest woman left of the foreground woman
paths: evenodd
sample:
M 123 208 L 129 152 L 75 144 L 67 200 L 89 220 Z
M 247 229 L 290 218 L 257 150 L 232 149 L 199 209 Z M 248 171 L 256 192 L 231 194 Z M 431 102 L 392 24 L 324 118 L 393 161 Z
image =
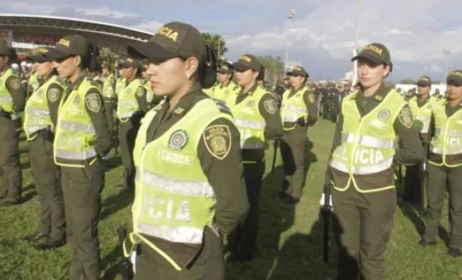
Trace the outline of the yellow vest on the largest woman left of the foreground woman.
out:
M 92 79 L 85 78 L 59 108 L 54 141 L 57 165 L 83 168 L 97 160 L 97 134 L 85 109 L 85 94 L 94 88 L 98 87 Z

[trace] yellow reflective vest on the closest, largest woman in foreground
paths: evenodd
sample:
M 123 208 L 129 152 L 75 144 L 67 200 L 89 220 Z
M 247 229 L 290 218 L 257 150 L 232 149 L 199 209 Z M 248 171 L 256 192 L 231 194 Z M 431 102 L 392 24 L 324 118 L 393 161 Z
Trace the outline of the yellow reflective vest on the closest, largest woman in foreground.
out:
M 197 145 L 211 122 L 230 116 L 221 113 L 212 99 L 203 99 L 161 137 L 147 143 L 148 127 L 159 108 L 156 106 L 146 114 L 135 141 L 136 195 L 132 207 L 133 232 L 129 237 L 132 244 L 147 244 L 181 270 L 184 267 L 146 236 L 174 243 L 202 244 L 204 228 L 214 221 L 215 194 L 202 171 Z M 124 246 L 126 256 L 134 246 L 130 250 Z

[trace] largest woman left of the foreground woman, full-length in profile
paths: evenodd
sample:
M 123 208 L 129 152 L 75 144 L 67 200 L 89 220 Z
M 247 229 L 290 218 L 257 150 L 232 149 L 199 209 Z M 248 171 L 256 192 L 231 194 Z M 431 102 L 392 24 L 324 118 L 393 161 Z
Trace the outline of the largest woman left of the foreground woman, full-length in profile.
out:
M 97 47 L 78 35 L 64 36 L 46 54 L 55 60 L 59 78 L 70 83 L 59 108 L 53 145 L 62 172 L 67 241 L 73 250 L 71 280 L 100 276 L 102 158 L 111 150 L 111 135 L 102 93 L 86 71 L 97 67 L 97 55 Z

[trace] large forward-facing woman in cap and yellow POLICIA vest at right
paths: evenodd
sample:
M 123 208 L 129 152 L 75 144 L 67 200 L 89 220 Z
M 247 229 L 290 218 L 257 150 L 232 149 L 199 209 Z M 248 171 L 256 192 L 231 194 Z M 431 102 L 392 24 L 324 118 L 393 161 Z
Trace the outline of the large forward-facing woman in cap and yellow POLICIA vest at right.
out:
M 396 207 L 392 164 L 414 165 L 423 149 L 409 106 L 383 83 L 393 67 L 387 48 L 366 45 L 356 59 L 361 87 L 342 102 L 325 178 L 333 183 L 336 279 L 384 279 Z

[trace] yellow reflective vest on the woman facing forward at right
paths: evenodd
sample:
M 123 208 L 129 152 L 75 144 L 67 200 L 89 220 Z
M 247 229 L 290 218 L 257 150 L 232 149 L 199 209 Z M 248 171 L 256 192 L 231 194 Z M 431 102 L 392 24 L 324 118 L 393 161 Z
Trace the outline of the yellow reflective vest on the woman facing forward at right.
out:
M 332 153 L 329 165 L 333 169 L 349 174 L 346 186 L 335 186 L 339 191 L 345 191 L 351 181 L 360 193 L 374 193 L 395 188 L 385 186 L 372 190 L 358 188 L 354 175 L 366 175 L 382 172 L 391 168 L 395 155 L 396 139 L 393 123 L 398 117 L 405 100 L 395 90 L 391 90 L 380 104 L 370 113 L 361 117 L 356 106 L 358 91 L 344 97 L 342 113 L 342 143 Z

